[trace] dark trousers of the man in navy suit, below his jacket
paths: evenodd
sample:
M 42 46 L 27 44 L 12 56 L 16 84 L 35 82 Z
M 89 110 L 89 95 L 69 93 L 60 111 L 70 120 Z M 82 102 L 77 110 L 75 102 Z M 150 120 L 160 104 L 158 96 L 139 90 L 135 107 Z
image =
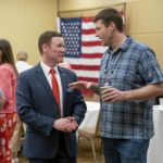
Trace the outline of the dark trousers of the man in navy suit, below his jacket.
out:
M 64 142 L 64 135 L 60 134 L 58 154 L 53 159 L 28 158 L 29 163 L 76 163 L 76 156 L 70 158 Z

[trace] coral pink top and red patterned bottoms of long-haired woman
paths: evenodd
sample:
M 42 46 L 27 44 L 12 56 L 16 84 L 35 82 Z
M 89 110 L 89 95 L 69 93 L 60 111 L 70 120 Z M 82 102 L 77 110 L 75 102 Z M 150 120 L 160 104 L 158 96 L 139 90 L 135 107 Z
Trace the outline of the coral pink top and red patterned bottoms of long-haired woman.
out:
M 11 138 L 17 122 L 15 90 L 17 77 L 13 67 L 8 64 L 0 65 L 0 89 L 5 97 L 5 103 L 0 111 L 0 163 L 11 163 Z

